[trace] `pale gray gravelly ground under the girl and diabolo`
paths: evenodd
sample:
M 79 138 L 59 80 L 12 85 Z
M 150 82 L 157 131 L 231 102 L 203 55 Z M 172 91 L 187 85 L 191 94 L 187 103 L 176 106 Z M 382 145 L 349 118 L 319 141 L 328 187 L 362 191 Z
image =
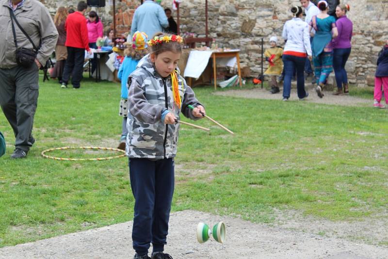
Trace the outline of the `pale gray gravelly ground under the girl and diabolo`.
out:
M 198 222 L 226 224 L 226 242 L 200 244 Z M 91 229 L 34 243 L 0 249 L 0 258 L 132 258 L 132 222 Z M 353 243 L 333 237 L 254 224 L 194 210 L 171 214 L 166 252 L 174 259 L 383 259 L 388 248 Z

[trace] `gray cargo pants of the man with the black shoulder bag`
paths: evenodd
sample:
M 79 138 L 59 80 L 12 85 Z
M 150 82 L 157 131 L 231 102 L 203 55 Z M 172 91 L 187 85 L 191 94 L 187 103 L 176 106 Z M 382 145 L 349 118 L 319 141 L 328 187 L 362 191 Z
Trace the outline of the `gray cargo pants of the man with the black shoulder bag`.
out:
M 15 147 L 28 151 L 32 146 L 32 125 L 38 104 L 38 66 L 0 68 L 0 106 L 14 130 Z

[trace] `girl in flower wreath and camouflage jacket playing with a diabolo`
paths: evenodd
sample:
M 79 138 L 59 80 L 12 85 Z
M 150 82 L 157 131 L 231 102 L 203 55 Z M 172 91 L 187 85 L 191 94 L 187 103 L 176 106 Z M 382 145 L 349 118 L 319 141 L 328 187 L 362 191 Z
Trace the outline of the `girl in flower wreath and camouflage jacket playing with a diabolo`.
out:
M 172 259 L 163 253 L 174 193 L 180 113 L 193 120 L 204 107 L 177 68 L 182 37 L 157 33 L 148 41 L 149 54 L 129 75 L 126 153 L 135 197 L 132 228 L 134 259 Z M 194 106 L 192 110 L 189 105 Z

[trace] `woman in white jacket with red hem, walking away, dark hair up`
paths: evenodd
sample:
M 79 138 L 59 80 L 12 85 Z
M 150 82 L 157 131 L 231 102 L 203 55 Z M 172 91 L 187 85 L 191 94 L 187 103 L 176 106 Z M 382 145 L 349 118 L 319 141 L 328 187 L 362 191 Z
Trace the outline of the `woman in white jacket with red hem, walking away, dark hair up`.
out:
M 284 82 L 283 101 L 287 101 L 291 94 L 291 77 L 296 68 L 297 93 L 299 99 L 305 99 L 308 93 L 305 90 L 305 63 L 308 57 L 311 60 L 311 45 L 308 24 L 301 19 L 302 7 L 291 8 L 293 18 L 286 21 L 283 27 L 283 38 L 286 45 L 283 51 Z

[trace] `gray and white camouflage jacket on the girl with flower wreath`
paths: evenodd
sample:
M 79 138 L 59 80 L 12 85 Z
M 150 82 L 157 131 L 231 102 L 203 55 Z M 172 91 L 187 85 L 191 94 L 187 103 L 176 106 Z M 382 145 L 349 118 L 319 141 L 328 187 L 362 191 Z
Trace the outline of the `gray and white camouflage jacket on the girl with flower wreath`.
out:
M 178 70 L 178 68 L 177 68 Z M 200 105 L 193 90 L 179 75 L 179 94 L 182 99 L 179 110 L 174 102 L 171 77 L 162 78 L 155 70 L 149 55 L 143 57 L 128 78 L 127 148 L 129 158 L 164 159 L 177 154 L 179 124 L 162 122 L 166 110 L 179 119 L 180 112 L 196 120 L 189 104 Z M 183 86 L 183 87 L 182 87 Z

